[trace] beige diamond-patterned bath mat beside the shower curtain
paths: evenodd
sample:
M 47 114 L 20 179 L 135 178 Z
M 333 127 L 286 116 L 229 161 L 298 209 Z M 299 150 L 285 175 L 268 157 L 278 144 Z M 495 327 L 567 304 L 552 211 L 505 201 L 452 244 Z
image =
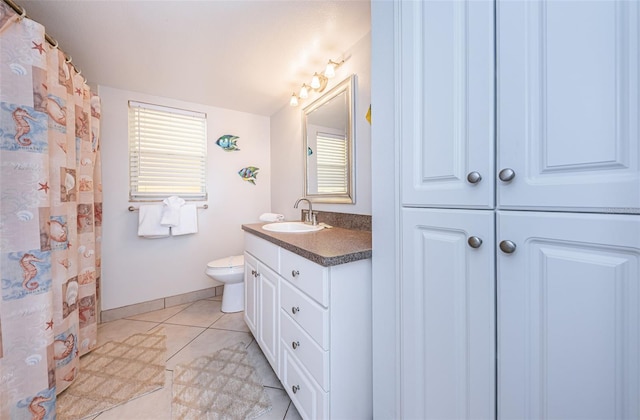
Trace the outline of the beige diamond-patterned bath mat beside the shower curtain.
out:
M 80 373 L 58 395 L 58 420 L 95 416 L 164 386 L 166 336 L 160 329 L 110 341 L 80 359 Z

